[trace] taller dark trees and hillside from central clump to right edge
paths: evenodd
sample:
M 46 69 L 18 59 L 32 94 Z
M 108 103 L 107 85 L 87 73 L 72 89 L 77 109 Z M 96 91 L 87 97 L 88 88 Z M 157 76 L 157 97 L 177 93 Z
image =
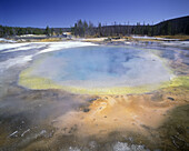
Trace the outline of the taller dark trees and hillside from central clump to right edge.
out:
M 162 21 L 158 24 L 115 24 L 102 26 L 99 23 L 94 27 L 93 23 L 78 20 L 74 27 L 71 28 L 72 34 L 76 37 L 117 37 L 117 36 L 175 36 L 189 34 L 189 17 Z

